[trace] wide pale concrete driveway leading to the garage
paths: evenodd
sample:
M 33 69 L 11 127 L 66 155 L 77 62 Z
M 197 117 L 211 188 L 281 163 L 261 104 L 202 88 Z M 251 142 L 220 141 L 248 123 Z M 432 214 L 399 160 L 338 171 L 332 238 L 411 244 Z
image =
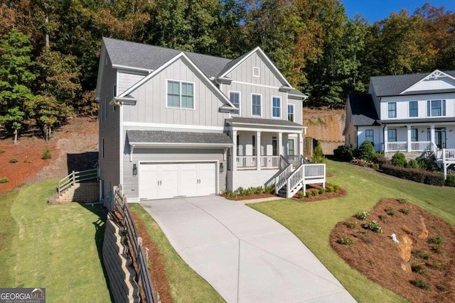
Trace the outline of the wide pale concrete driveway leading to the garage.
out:
M 226 302 L 355 302 L 287 228 L 223 197 L 141 202 Z

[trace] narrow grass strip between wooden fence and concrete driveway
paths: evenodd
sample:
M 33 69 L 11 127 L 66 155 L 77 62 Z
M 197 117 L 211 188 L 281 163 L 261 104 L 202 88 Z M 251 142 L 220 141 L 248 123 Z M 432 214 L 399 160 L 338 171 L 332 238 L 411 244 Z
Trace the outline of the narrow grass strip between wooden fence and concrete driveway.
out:
M 129 204 L 129 208 L 144 222 L 151 239 L 164 257 L 173 302 L 224 302 L 220 294 L 180 258 L 161 228 L 142 206 Z

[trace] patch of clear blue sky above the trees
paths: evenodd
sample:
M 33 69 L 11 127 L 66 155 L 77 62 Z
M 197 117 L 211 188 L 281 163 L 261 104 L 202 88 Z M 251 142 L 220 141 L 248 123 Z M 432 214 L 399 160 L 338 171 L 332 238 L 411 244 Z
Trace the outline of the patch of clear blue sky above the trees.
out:
M 444 6 L 446 11 L 455 11 L 455 0 L 341 0 L 349 18 L 360 13 L 369 23 L 374 23 L 390 16 L 390 13 L 399 13 L 407 9 L 410 14 L 417 7 L 429 2 L 432 6 Z

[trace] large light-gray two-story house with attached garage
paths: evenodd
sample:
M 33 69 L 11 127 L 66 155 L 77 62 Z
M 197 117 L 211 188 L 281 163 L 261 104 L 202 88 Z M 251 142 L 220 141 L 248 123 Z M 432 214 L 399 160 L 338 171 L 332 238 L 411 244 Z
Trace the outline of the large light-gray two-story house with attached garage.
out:
M 138 202 L 325 182 L 302 165 L 306 96 L 260 48 L 229 60 L 103 38 L 96 98 L 106 203 L 118 184 Z

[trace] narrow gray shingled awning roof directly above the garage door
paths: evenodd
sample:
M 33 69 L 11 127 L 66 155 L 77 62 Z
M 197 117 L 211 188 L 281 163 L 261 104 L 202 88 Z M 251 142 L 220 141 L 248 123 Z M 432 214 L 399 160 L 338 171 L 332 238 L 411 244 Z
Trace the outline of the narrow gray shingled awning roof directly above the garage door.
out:
M 129 143 L 232 144 L 225 133 L 191 133 L 186 131 L 127 131 Z

